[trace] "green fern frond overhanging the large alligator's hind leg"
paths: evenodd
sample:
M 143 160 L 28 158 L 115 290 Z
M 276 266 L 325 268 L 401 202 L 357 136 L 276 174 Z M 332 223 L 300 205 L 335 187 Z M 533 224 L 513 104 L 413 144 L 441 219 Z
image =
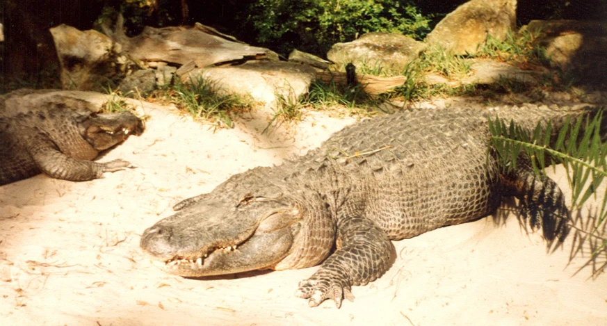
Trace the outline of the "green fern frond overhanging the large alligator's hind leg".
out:
M 547 164 L 563 163 L 567 182 L 572 188 L 572 209 L 581 207 L 607 177 L 607 142 L 601 137 L 602 111 L 592 119 L 579 118 L 572 123 L 567 117 L 558 133 L 553 124 L 537 124 L 533 131 L 489 117 L 491 149 L 503 172 L 516 169 L 517 158 L 524 151 L 531 159 L 535 174 L 544 174 Z M 556 135 L 556 136 L 555 136 Z M 601 209 L 594 230 L 607 220 L 607 192 L 602 196 Z M 605 245 L 605 244 L 604 244 Z

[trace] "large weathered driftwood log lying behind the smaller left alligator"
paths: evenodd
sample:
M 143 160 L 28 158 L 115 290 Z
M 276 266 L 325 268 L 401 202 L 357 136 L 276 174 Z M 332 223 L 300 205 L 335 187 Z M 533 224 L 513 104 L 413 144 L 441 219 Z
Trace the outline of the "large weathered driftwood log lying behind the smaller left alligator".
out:
M 63 88 L 102 90 L 115 87 L 133 71 L 177 66 L 181 74 L 195 68 L 248 60 L 278 60 L 273 51 L 252 47 L 214 28 L 195 24 L 165 28 L 146 27 L 129 38 L 119 17 L 112 31 L 79 31 L 60 25 L 51 28 L 61 65 Z

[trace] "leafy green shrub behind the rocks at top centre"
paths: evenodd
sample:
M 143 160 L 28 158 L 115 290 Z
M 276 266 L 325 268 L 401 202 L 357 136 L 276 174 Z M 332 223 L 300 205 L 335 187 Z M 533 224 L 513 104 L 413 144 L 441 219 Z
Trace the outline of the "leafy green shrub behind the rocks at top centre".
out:
M 332 44 L 373 31 L 423 38 L 430 19 L 407 0 L 259 0 L 248 22 L 257 40 L 286 54 L 293 48 L 323 56 Z

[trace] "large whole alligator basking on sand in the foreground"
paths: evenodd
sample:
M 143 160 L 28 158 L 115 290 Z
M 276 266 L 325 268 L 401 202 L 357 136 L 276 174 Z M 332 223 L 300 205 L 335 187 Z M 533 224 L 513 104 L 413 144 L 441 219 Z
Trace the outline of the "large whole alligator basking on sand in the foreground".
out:
M 515 196 L 549 245 L 563 241 L 569 210 L 557 184 L 521 154 L 504 172 L 489 150 L 487 117 L 525 129 L 590 108 L 503 107 L 405 111 L 359 122 L 320 148 L 273 168 L 236 174 L 186 199 L 145 230 L 140 247 L 186 277 L 323 263 L 296 293 L 311 307 L 353 300 L 350 288 L 390 266 L 391 240 L 477 220 Z

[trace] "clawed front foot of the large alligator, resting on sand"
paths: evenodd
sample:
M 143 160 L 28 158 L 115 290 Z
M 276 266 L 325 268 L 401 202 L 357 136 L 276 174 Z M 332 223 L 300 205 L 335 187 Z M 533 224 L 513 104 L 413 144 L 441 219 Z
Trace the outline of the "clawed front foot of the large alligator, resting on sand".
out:
M 354 301 L 350 286 L 342 286 L 330 280 L 307 279 L 302 281 L 295 295 L 298 298 L 309 299 L 309 307 L 318 307 L 323 301 L 331 299 L 335 302 L 335 307 L 339 309 L 343 298 Z

